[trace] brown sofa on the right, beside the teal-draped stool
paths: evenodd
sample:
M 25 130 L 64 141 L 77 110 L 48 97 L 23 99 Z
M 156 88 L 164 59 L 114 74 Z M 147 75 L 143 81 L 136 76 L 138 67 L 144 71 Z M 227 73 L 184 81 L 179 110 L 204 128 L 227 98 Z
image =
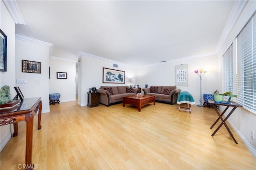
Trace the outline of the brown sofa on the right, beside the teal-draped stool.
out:
M 177 102 L 178 94 L 180 93 L 180 89 L 176 89 L 176 86 L 150 86 L 150 88 L 142 90 L 144 94 L 156 95 L 156 101 L 171 105 Z

